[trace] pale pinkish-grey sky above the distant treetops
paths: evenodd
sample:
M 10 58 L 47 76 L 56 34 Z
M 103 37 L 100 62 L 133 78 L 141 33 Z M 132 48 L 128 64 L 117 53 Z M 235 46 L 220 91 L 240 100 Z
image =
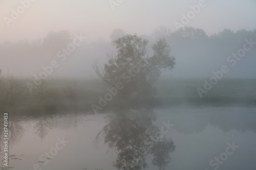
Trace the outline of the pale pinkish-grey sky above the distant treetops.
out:
M 116 28 L 139 35 L 151 34 L 158 26 L 175 31 L 174 22 L 181 23 L 181 14 L 186 15 L 191 10 L 189 6 L 198 4 L 198 0 L 124 0 L 113 11 L 109 0 L 36 0 L 8 27 L 4 17 L 11 18 L 12 9 L 17 11 L 21 3 L 0 0 L 0 42 L 38 39 L 49 31 L 61 30 L 69 30 L 71 34 L 83 33 L 90 40 L 104 37 L 106 41 L 110 40 L 109 35 Z M 204 7 L 189 20 L 187 26 L 201 28 L 212 35 L 224 28 L 234 32 L 253 30 L 255 21 L 255 0 L 205 0 Z

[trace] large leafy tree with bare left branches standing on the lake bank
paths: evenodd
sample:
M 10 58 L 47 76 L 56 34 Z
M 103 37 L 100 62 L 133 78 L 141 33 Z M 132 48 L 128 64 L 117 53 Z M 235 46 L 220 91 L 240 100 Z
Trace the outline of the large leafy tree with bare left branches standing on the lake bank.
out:
M 117 96 L 147 97 L 151 95 L 152 84 L 158 80 L 162 69 L 173 69 L 175 57 L 170 56 L 170 47 L 164 39 L 147 47 L 148 40 L 135 35 L 125 35 L 113 42 L 117 55 L 107 54 L 110 58 L 104 68 L 97 60 L 93 63 L 96 74 L 106 83 L 115 87 L 123 85 Z M 151 57 L 149 57 L 149 55 Z

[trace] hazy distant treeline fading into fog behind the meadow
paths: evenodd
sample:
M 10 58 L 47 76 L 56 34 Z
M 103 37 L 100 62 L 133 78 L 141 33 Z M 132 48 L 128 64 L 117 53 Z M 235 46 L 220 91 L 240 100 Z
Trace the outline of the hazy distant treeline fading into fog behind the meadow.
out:
M 110 36 L 112 41 L 125 34 L 120 30 L 113 31 Z M 172 32 L 162 26 L 156 28 L 150 35 L 140 36 L 150 40 L 148 45 L 156 43 L 160 38 L 166 39 L 177 62 L 172 73 L 173 77 L 205 78 L 212 76 L 211 71 L 220 69 L 222 65 L 230 64 L 227 62 L 228 56 L 243 48 L 245 39 L 256 42 L 256 29 L 252 31 L 241 29 L 237 32 L 224 29 L 218 34 L 208 36 L 198 28 L 184 27 Z M 39 74 L 42 66 L 49 65 L 52 60 L 57 60 L 61 64 L 58 67 L 58 73 L 54 71 L 53 76 L 56 74 L 56 76 L 90 77 L 95 76 L 92 69 L 94 59 L 99 59 L 101 63 L 104 63 L 108 60 L 107 52 L 115 53 L 112 41 L 107 42 L 101 38 L 97 42 L 90 42 L 88 39 L 82 42 L 62 64 L 57 53 L 62 48 L 66 48 L 72 42 L 73 37 L 74 35 L 71 35 L 69 31 L 63 30 L 49 32 L 44 38 L 35 40 L 18 42 L 5 40 L 0 43 L 0 55 L 5 57 L 5 65 L 1 65 L 0 68 L 5 75 L 8 69 L 15 67 L 21 70 L 11 71 L 15 76 L 33 77 L 34 74 Z M 256 45 L 253 44 L 251 50 L 246 52 L 245 57 L 235 67 L 232 67 L 232 71 L 229 71 L 225 78 L 256 78 L 253 74 L 255 56 Z M 23 69 L 26 67 L 29 69 Z M 76 70 L 71 70 L 71 68 L 76 68 Z M 164 75 L 169 77 L 170 72 Z

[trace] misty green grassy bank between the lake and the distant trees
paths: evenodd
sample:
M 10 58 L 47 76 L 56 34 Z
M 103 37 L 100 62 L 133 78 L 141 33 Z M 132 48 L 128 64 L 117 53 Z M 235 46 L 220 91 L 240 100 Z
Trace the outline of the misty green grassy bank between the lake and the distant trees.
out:
M 33 114 L 94 114 L 92 104 L 99 105 L 99 96 L 104 98 L 106 85 L 98 79 L 91 80 L 46 80 L 47 90 L 39 95 L 33 90 L 30 93 L 26 86 L 33 80 L 17 79 L 20 88 L 10 103 L 4 92 L 1 93 L 0 111 L 14 115 Z M 197 87 L 203 87 L 203 79 L 160 79 L 155 84 L 157 91 L 151 98 L 113 99 L 98 113 L 124 108 L 158 108 L 177 105 L 195 106 L 256 106 L 255 79 L 221 79 L 203 98 L 200 98 Z

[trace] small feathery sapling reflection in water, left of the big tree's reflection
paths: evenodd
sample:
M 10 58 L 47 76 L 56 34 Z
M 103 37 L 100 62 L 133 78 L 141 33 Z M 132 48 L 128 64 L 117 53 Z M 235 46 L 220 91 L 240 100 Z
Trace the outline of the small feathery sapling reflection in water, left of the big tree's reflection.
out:
M 48 129 L 51 129 L 50 123 L 47 120 L 41 119 L 34 126 L 34 130 L 36 130 L 35 134 L 37 134 L 41 140 L 46 137 L 48 134 Z

